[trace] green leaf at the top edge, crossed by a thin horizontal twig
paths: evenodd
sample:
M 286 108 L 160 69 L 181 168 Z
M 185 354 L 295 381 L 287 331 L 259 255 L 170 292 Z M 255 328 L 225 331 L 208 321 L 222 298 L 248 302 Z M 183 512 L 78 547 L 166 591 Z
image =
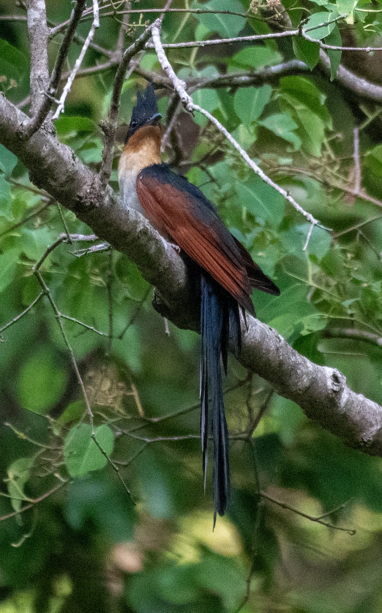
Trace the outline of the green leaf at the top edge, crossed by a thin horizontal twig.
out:
M 192 9 L 208 9 L 208 10 L 231 10 L 232 12 L 242 13 L 243 5 L 239 0 L 210 0 L 199 4 L 193 2 Z M 200 13 L 194 14 L 194 17 L 199 23 L 204 26 L 205 34 L 209 32 L 218 32 L 223 38 L 232 38 L 237 36 L 245 26 L 245 18 L 237 15 L 224 15 L 223 13 Z

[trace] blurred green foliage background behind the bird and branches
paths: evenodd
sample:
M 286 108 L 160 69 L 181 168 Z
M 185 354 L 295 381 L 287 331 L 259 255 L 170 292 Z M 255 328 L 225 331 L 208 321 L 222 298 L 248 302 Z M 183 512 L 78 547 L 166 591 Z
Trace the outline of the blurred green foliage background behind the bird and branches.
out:
M 251 2 L 248 18 L 214 12 L 243 13 L 249 4 L 179 0 L 174 6 L 212 12 L 169 13 L 163 38 L 275 31 L 276 1 Z M 161 6 L 159 0 L 132 4 Z M 101 7 L 103 14 L 106 3 Z M 301 6 L 287 0 L 285 7 L 294 27 L 302 19 L 305 27 L 332 21 L 310 30 L 315 40 L 340 45 L 351 36 L 353 45 L 381 44 L 379 0 L 306 0 Z M 0 13 L 14 11 L 14 2 L 2 0 Z M 50 25 L 70 11 L 69 0 L 47 2 Z M 345 20 L 333 21 L 344 13 Z M 152 18 L 131 15 L 126 41 Z M 20 103 L 29 94 L 26 23 L 0 24 L 0 86 Z M 121 15 L 109 10 L 97 45 L 113 50 L 120 24 Z M 84 21 L 78 33 L 86 36 L 88 29 Z M 50 42 L 52 66 L 61 39 L 58 34 Z M 185 79 L 251 72 L 292 58 L 310 69 L 318 63 L 314 42 L 278 40 L 172 49 L 168 55 Z M 69 66 L 79 48 L 72 44 Z M 102 64 L 105 56 L 92 48 L 83 67 Z M 329 57 L 331 82 L 306 72 L 193 93 L 273 180 L 333 230 L 315 227 L 305 251 L 309 224 L 246 167 L 204 116 L 182 113 L 172 144 L 183 158 L 170 149 L 165 155 L 202 187 L 280 286 L 280 298 L 254 295 L 259 318 L 297 351 L 339 368 L 354 390 L 382 403 L 376 342 L 382 337 L 381 109 L 340 88 L 335 75 L 341 51 L 329 51 Z M 362 57 L 370 74 L 372 54 Z M 159 72 L 153 51 L 142 54 L 140 66 Z M 114 72 L 111 67 L 78 78 L 55 122 L 59 140 L 94 170 Z M 381 78 L 376 73 L 372 80 Z M 124 84 L 121 123 L 129 121 L 143 85 L 137 73 Z M 162 89 L 159 98 L 166 116 L 169 92 Z M 365 190 L 358 195 L 354 126 Z M 0 329 L 39 298 L 32 265 L 66 228 L 91 234 L 34 188 L 25 168 L 0 145 Z M 135 265 L 113 251 L 75 257 L 82 246 L 59 245 L 40 273 L 59 313 L 72 318 L 60 321 L 93 408 L 95 441 L 47 298 L 1 333 L 0 613 L 233 613 L 241 604 L 243 613 L 379 613 L 381 460 L 345 448 L 232 358 L 225 386 L 234 490 L 227 516 L 212 531 L 212 497 L 209 482 L 204 497 L 197 438 L 197 335 L 170 324 L 167 336 Z M 349 329 L 369 338 L 351 338 Z M 332 527 L 309 519 L 323 514 Z

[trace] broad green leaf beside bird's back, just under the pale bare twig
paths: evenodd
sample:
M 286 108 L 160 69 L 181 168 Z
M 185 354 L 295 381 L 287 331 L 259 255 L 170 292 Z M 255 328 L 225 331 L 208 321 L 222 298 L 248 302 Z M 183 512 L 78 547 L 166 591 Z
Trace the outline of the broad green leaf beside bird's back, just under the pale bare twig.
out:
M 278 227 L 284 216 L 285 201 L 283 196 L 267 183 L 254 175 L 250 181 L 240 181 L 236 186 L 237 200 L 254 216 L 268 221 Z

